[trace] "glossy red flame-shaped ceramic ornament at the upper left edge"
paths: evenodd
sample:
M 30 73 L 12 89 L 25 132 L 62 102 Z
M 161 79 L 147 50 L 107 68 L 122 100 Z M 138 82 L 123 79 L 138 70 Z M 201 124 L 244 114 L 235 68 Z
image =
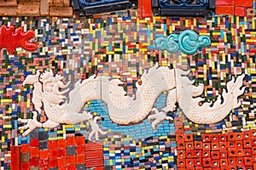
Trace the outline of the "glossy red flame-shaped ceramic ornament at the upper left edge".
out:
M 29 30 L 24 32 L 20 26 L 15 31 L 15 26 L 1 26 L 0 28 L 0 50 L 7 48 L 9 54 L 15 53 L 15 48 L 24 48 L 27 51 L 35 51 L 38 48 L 37 43 L 29 40 L 35 37 L 35 31 Z

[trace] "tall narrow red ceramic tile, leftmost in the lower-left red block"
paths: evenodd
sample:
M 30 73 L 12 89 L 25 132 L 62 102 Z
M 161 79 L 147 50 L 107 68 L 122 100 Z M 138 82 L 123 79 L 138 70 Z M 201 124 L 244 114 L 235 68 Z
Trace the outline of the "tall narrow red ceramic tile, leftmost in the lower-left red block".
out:
M 20 169 L 20 146 L 11 146 L 11 170 Z

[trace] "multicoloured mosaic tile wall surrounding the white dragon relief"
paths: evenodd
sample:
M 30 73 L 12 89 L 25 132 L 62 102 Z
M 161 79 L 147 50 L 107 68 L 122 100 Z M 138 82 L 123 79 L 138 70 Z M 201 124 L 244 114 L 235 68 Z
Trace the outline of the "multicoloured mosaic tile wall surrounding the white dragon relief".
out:
M 0 25 L 34 30 L 33 52 L 16 48 L 0 52 L 1 169 L 256 169 L 255 18 L 137 16 L 137 11 L 96 15 L 91 19 L 56 17 L 3 17 Z M 193 30 L 211 39 L 196 54 L 169 54 L 154 47 L 156 37 Z M 9 43 L 9 42 L 8 42 Z M 12 43 L 12 42 L 10 42 Z M 52 70 L 71 88 L 79 79 L 108 76 L 120 79 L 127 95 L 135 94 L 143 71 L 154 65 L 190 70 L 195 85 L 203 83 L 207 101 L 215 101 L 232 77 L 245 74 L 241 106 L 223 121 L 196 124 L 179 109 L 169 112 L 173 121 L 153 130 L 148 119 L 129 126 L 112 122 L 108 105 L 90 100 L 84 111 L 100 116 L 99 140 L 89 140 L 90 124 L 61 124 L 37 128 L 23 137 L 18 118 L 32 118 L 32 85 L 22 86 L 36 71 Z M 143 82 L 142 82 L 143 83 Z M 154 107 L 166 105 L 166 92 Z M 143 107 L 143 105 L 142 105 Z M 38 121 L 48 119 L 44 110 Z

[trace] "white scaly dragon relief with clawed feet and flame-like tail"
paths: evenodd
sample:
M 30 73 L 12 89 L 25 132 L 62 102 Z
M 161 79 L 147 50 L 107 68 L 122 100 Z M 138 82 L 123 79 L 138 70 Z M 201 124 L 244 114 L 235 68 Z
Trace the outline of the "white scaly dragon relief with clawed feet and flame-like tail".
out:
M 212 103 L 199 102 L 204 98 L 197 97 L 202 94 L 204 86 L 200 84 L 195 87 L 194 81 L 189 80 L 189 71 L 179 69 L 169 69 L 168 67 L 159 67 L 158 64 L 144 71 L 142 84 L 137 83 L 137 93 L 135 96 L 125 95 L 125 90 L 119 79 L 110 79 L 110 77 L 95 75 L 75 83 L 72 91 L 67 88 L 70 82 L 65 85 L 63 77 L 54 75 L 52 71 L 37 71 L 36 75 L 26 77 L 23 85 L 33 85 L 32 103 L 36 111 L 33 111 L 32 119 L 18 119 L 25 123 L 20 129 L 26 129 L 22 134 L 26 136 L 36 127 L 56 127 L 60 123 L 76 124 L 89 121 L 92 131 L 89 139 L 95 135 L 98 140 L 99 133 L 107 132 L 96 123 L 99 116 L 93 118 L 90 112 L 83 111 L 84 104 L 91 99 L 102 99 L 108 105 L 108 114 L 113 122 L 130 125 L 142 122 L 148 116 L 153 128 L 164 120 L 172 120 L 167 116 L 168 111 L 176 109 L 178 103 L 185 116 L 195 123 L 214 123 L 220 122 L 227 116 L 232 109 L 239 107 L 240 102 L 237 97 L 243 94 L 245 87 L 242 86 L 244 75 L 233 77 L 227 83 L 227 91 Z M 69 93 L 69 98 L 64 94 Z M 154 108 L 155 99 L 164 91 L 167 91 L 166 106 L 161 110 Z M 223 99 L 221 99 L 223 98 Z M 44 105 L 44 111 L 48 120 L 44 123 L 37 121 L 38 113 L 41 113 Z M 38 112 L 37 112 L 38 111 Z M 154 111 L 154 114 L 150 114 Z

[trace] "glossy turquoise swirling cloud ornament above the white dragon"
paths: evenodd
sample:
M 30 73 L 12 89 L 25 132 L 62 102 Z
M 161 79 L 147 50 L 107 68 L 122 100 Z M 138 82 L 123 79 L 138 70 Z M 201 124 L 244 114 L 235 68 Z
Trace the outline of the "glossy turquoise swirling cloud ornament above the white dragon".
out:
M 184 54 L 195 54 L 198 48 L 206 48 L 211 44 L 207 36 L 199 36 L 195 31 L 185 30 L 177 34 L 171 34 L 166 37 L 157 37 L 154 40 L 155 48 L 169 53 L 176 53 L 181 50 Z

